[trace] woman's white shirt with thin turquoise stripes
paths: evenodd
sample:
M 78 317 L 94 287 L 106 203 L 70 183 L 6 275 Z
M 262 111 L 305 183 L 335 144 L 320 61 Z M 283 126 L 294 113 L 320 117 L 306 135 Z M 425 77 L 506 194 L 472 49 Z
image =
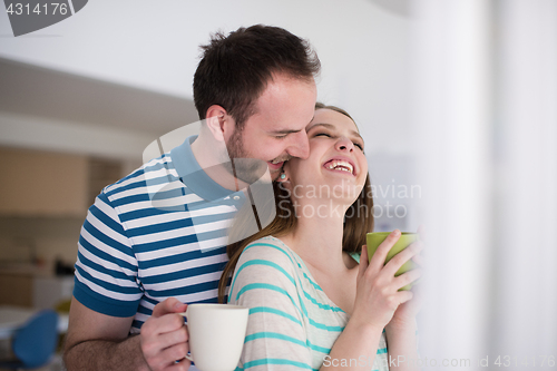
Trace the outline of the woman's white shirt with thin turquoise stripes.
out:
M 228 300 L 250 307 L 237 370 L 317 370 L 350 319 L 303 260 L 275 237 L 260 238 L 244 250 Z M 358 361 L 371 367 L 368 359 Z M 389 370 L 384 332 L 373 370 Z

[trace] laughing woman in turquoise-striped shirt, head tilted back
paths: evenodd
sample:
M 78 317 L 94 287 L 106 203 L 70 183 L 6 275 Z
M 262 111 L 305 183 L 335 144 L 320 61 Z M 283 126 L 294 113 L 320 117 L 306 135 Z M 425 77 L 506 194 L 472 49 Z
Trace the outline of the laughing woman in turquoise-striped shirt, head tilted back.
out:
M 368 264 L 362 245 L 373 219 L 363 139 L 344 110 L 321 104 L 306 130 L 310 157 L 285 165 L 274 221 L 228 246 L 221 296 L 234 271 L 229 303 L 251 307 L 240 368 L 389 370 L 388 354 L 417 360 L 417 305 L 412 292 L 398 290 L 420 271 L 394 272 L 421 246 L 383 266 L 394 231 Z

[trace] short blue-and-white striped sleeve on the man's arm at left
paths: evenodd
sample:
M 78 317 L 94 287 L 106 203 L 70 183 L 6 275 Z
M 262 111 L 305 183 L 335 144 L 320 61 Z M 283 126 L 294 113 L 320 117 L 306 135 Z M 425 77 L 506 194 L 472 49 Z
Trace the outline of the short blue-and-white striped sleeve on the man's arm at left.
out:
M 96 312 L 133 316 L 143 295 L 137 271 L 131 242 L 102 192 L 81 227 L 74 296 Z

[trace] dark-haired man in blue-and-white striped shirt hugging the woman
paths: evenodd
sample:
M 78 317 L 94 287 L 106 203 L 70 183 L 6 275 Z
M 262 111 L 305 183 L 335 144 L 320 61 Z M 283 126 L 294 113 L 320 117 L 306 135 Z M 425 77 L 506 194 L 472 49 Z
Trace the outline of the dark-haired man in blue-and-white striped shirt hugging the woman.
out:
M 203 49 L 194 77 L 199 135 L 107 186 L 89 208 L 65 346 L 69 371 L 187 370 L 177 313 L 216 302 L 227 260 L 222 237 L 246 199 L 243 187 L 261 174 L 261 160 L 274 179 L 290 157 L 309 156 L 320 69 L 309 46 L 253 26 L 216 35 Z

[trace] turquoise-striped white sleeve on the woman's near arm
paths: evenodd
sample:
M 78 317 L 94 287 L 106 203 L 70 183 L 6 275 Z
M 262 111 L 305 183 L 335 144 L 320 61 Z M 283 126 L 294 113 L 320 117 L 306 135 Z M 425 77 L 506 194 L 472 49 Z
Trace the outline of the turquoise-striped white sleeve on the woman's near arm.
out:
M 312 369 L 297 276 L 291 256 L 272 243 L 244 250 L 233 276 L 229 303 L 250 307 L 236 370 Z

